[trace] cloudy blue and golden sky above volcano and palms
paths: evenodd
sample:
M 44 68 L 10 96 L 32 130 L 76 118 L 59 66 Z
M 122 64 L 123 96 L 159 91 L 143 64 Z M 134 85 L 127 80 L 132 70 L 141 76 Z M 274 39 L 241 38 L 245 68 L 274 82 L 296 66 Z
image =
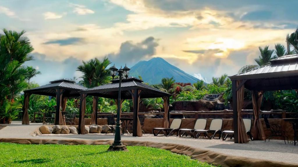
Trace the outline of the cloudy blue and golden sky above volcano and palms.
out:
M 258 47 L 286 45 L 297 0 L 0 0 L 0 28 L 25 30 L 40 85 L 80 77 L 82 60 L 117 67 L 161 57 L 209 83 L 256 64 Z M 0 33 L 2 31 L 0 30 Z

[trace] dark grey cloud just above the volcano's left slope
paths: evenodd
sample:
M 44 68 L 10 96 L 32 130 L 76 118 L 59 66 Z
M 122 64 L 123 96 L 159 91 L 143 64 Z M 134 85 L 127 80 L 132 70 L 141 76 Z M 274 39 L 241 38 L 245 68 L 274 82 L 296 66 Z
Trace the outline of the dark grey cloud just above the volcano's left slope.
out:
M 121 44 L 118 53 L 110 53 L 108 58 L 116 64 L 127 63 L 131 66 L 144 58 L 152 57 L 156 53 L 157 46 L 158 43 L 154 37 L 148 37 L 139 43 L 126 41 Z

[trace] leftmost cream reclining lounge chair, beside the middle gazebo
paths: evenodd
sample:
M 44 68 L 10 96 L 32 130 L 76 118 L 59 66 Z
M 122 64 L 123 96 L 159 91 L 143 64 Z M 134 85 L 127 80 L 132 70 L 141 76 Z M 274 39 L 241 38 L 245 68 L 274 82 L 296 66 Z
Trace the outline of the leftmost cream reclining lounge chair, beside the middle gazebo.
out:
M 175 132 L 178 132 L 181 126 L 181 122 L 182 122 L 181 118 L 175 118 L 173 119 L 170 128 L 156 127 L 156 128 L 153 128 L 152 133 L 154 136 L 157 136 L 162 131 L 164 133 L 164 136 L 171 136 Z M 155 130 L 158 132 L 154 133 Z M 177 133 L 177 136 L 178 136 L 178 133 Z

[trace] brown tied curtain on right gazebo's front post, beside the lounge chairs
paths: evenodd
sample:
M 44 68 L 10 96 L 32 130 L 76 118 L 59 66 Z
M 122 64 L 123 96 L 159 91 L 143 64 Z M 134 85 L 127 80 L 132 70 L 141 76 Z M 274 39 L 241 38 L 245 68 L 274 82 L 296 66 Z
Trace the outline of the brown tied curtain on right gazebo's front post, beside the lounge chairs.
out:
M 238 80 L 236 83 L 236 87 L 240 85 L 242 80 Z M 237 91 L 237 113 L 238 113 L 238 143 L 247 143 L 247 134 L 244 127 L 244 122 L 242 119 L 241 111 L 243 107 L 244 100 L 244 84 Z

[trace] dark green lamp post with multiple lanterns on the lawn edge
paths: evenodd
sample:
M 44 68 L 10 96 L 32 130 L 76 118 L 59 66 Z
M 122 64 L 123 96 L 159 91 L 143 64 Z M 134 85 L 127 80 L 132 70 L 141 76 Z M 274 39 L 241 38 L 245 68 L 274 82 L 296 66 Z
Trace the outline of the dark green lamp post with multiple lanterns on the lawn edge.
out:
M 111 76 L 114 80 L 114 77 L 118 74 L 119 78 L 119 90 L 118 90 L 118 107 L 117 107 L 117 120 L 115 127 L 115 138 L 114 143 L 109 147 L 108 151 L 128 151 L 125 145 L 121 143 L 121 132 L 120 132 L 120 106 L 121 106 L 121 81 L 122 77 L 128 78 L 130 68 L 128 68 L 125 64 L 125 67 L 122 69 L 122 66 L 118 70 L 114 66 L 110 68 Z

